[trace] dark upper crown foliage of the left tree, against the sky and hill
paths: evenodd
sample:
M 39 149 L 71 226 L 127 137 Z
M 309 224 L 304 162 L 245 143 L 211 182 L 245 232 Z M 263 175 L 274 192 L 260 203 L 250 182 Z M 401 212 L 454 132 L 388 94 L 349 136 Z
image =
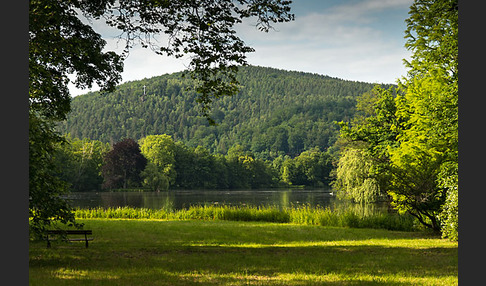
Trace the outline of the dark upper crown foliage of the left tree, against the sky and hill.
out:
M 43 116 L 64 120 L 70 110 L 68 75 L 75 75 L 77 87 L 96 82 L 112 91 L 123 63 L 121 56 L 103 52 L 106 42 L 81 22 L 73 3 L 47 3 L 29 2 L 29 104 Z

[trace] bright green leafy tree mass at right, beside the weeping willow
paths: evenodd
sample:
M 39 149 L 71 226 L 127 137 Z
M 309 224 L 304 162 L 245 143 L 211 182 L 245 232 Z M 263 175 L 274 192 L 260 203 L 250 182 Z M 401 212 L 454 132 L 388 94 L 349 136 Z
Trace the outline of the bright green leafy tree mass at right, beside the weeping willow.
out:
M 365 142 L 369 173 L 399 211 L 457 239 L 457 0 L 417 0 L 409 14 L 401 92 L 381 96 L 355 127 L 341 124 L 341 134 Z

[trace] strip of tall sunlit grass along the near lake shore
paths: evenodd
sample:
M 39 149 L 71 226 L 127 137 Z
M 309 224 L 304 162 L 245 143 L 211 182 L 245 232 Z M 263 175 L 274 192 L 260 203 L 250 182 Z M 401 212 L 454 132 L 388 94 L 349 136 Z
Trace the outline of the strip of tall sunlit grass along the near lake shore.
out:
M 292 223 L 299 225 L 338 226 L 352 228 L 381 228 L 412 231 L 414 218 L 395 213 L 363 214 L 353 209 L 331 210 L 309 205 L 279 209 L 275 206 L 191 206 L 169 211 L 147 208 L 91 208 L 76 210 L 76 218 L 162 219 L 162 220 L 230 220 Z

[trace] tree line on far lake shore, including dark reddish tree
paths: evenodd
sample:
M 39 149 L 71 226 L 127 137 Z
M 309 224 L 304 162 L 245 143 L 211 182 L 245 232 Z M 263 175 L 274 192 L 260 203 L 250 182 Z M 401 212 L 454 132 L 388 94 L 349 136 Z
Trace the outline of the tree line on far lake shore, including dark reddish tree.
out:
M 58 177 L 72 191 L 143 188 L 241 189 L 283 186 L 325 187 L 330 183 L 332 156 L 313 148 L 291 158 L 256 158 L 241 145 L 226 155 L 188 147 L 171 136 L 149 135 L 113 144 L 66 137 L 55 153 Z

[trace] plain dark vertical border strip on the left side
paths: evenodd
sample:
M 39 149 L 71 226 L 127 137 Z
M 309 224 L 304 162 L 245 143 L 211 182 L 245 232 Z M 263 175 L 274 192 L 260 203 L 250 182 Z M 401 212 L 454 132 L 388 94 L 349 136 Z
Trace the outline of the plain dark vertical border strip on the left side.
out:
M 1 245 L 6 268 L 1 281 L 28 285 L 29 264 L 29 2 L 2 5 L 1 140 L 3 222 Z M 7 250 L 11 249 L 11 250 Z

